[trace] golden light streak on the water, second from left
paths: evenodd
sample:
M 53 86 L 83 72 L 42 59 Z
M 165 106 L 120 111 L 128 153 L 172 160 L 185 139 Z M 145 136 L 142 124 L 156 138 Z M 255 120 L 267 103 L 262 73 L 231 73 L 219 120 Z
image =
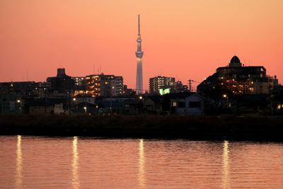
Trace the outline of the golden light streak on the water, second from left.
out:
M 79 188 L 79 175 L 78 175 L 78 166 L 79 166 L 79 153 L 78 153 L 78 137 L 73 139 L 73 178 L 71 180 L 71 185 L 73 188 Z

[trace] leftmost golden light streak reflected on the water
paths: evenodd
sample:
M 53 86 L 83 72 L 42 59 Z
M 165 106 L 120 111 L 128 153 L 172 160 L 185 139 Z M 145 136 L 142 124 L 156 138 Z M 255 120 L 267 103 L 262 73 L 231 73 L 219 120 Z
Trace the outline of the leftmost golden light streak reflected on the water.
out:
M 18 135 L 17 138 L 17 173 L 16 173 L 16 188 L 21 188 L 22 185 L 22 171 L 23 171 L 23 156 L 22 156 L 22 137 Z

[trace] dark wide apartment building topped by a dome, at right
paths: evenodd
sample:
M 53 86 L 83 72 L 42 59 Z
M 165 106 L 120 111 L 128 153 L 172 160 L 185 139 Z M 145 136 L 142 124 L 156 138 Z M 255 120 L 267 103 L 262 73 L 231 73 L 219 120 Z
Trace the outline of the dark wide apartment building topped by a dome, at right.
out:
M 197 91 L 204 95 L 221 92 L 231 95 L 268 94 L 276 85 L 277 79 L 268 76 L 265 67 L 244 67 L 240 59 L 234 56 L 228 67 L 217 68 L 216 73 L 197 86 Z

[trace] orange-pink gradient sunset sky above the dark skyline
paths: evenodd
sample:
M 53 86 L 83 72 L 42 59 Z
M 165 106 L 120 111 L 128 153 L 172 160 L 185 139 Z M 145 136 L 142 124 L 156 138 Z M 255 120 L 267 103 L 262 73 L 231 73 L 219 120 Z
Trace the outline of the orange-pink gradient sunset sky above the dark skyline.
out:
M 149 77 L 202 81 L 233 55 L 283 79 L 282 0 L 0 0 L 0 81 L 124 77 L 135 87 L 141 14 L 144 88 Z M 194 84 L 194 87 L 198 83 Z

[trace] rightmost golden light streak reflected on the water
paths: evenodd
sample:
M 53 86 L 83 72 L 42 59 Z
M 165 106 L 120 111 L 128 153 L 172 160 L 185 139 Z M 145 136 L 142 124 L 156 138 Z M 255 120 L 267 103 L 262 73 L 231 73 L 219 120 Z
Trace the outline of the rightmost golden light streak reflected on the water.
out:
M 230 188 L 229 141 L 223 144 L 222 187 Z

